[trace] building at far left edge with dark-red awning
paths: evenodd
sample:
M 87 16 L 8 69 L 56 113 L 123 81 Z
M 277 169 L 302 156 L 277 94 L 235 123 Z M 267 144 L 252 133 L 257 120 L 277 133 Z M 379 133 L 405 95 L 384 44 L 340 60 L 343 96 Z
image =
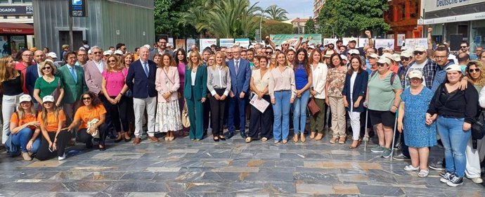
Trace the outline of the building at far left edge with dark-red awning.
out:
M 0 0 L 0 53 L 15 55 L 33 46 L 34 8 L 32 0 Z

